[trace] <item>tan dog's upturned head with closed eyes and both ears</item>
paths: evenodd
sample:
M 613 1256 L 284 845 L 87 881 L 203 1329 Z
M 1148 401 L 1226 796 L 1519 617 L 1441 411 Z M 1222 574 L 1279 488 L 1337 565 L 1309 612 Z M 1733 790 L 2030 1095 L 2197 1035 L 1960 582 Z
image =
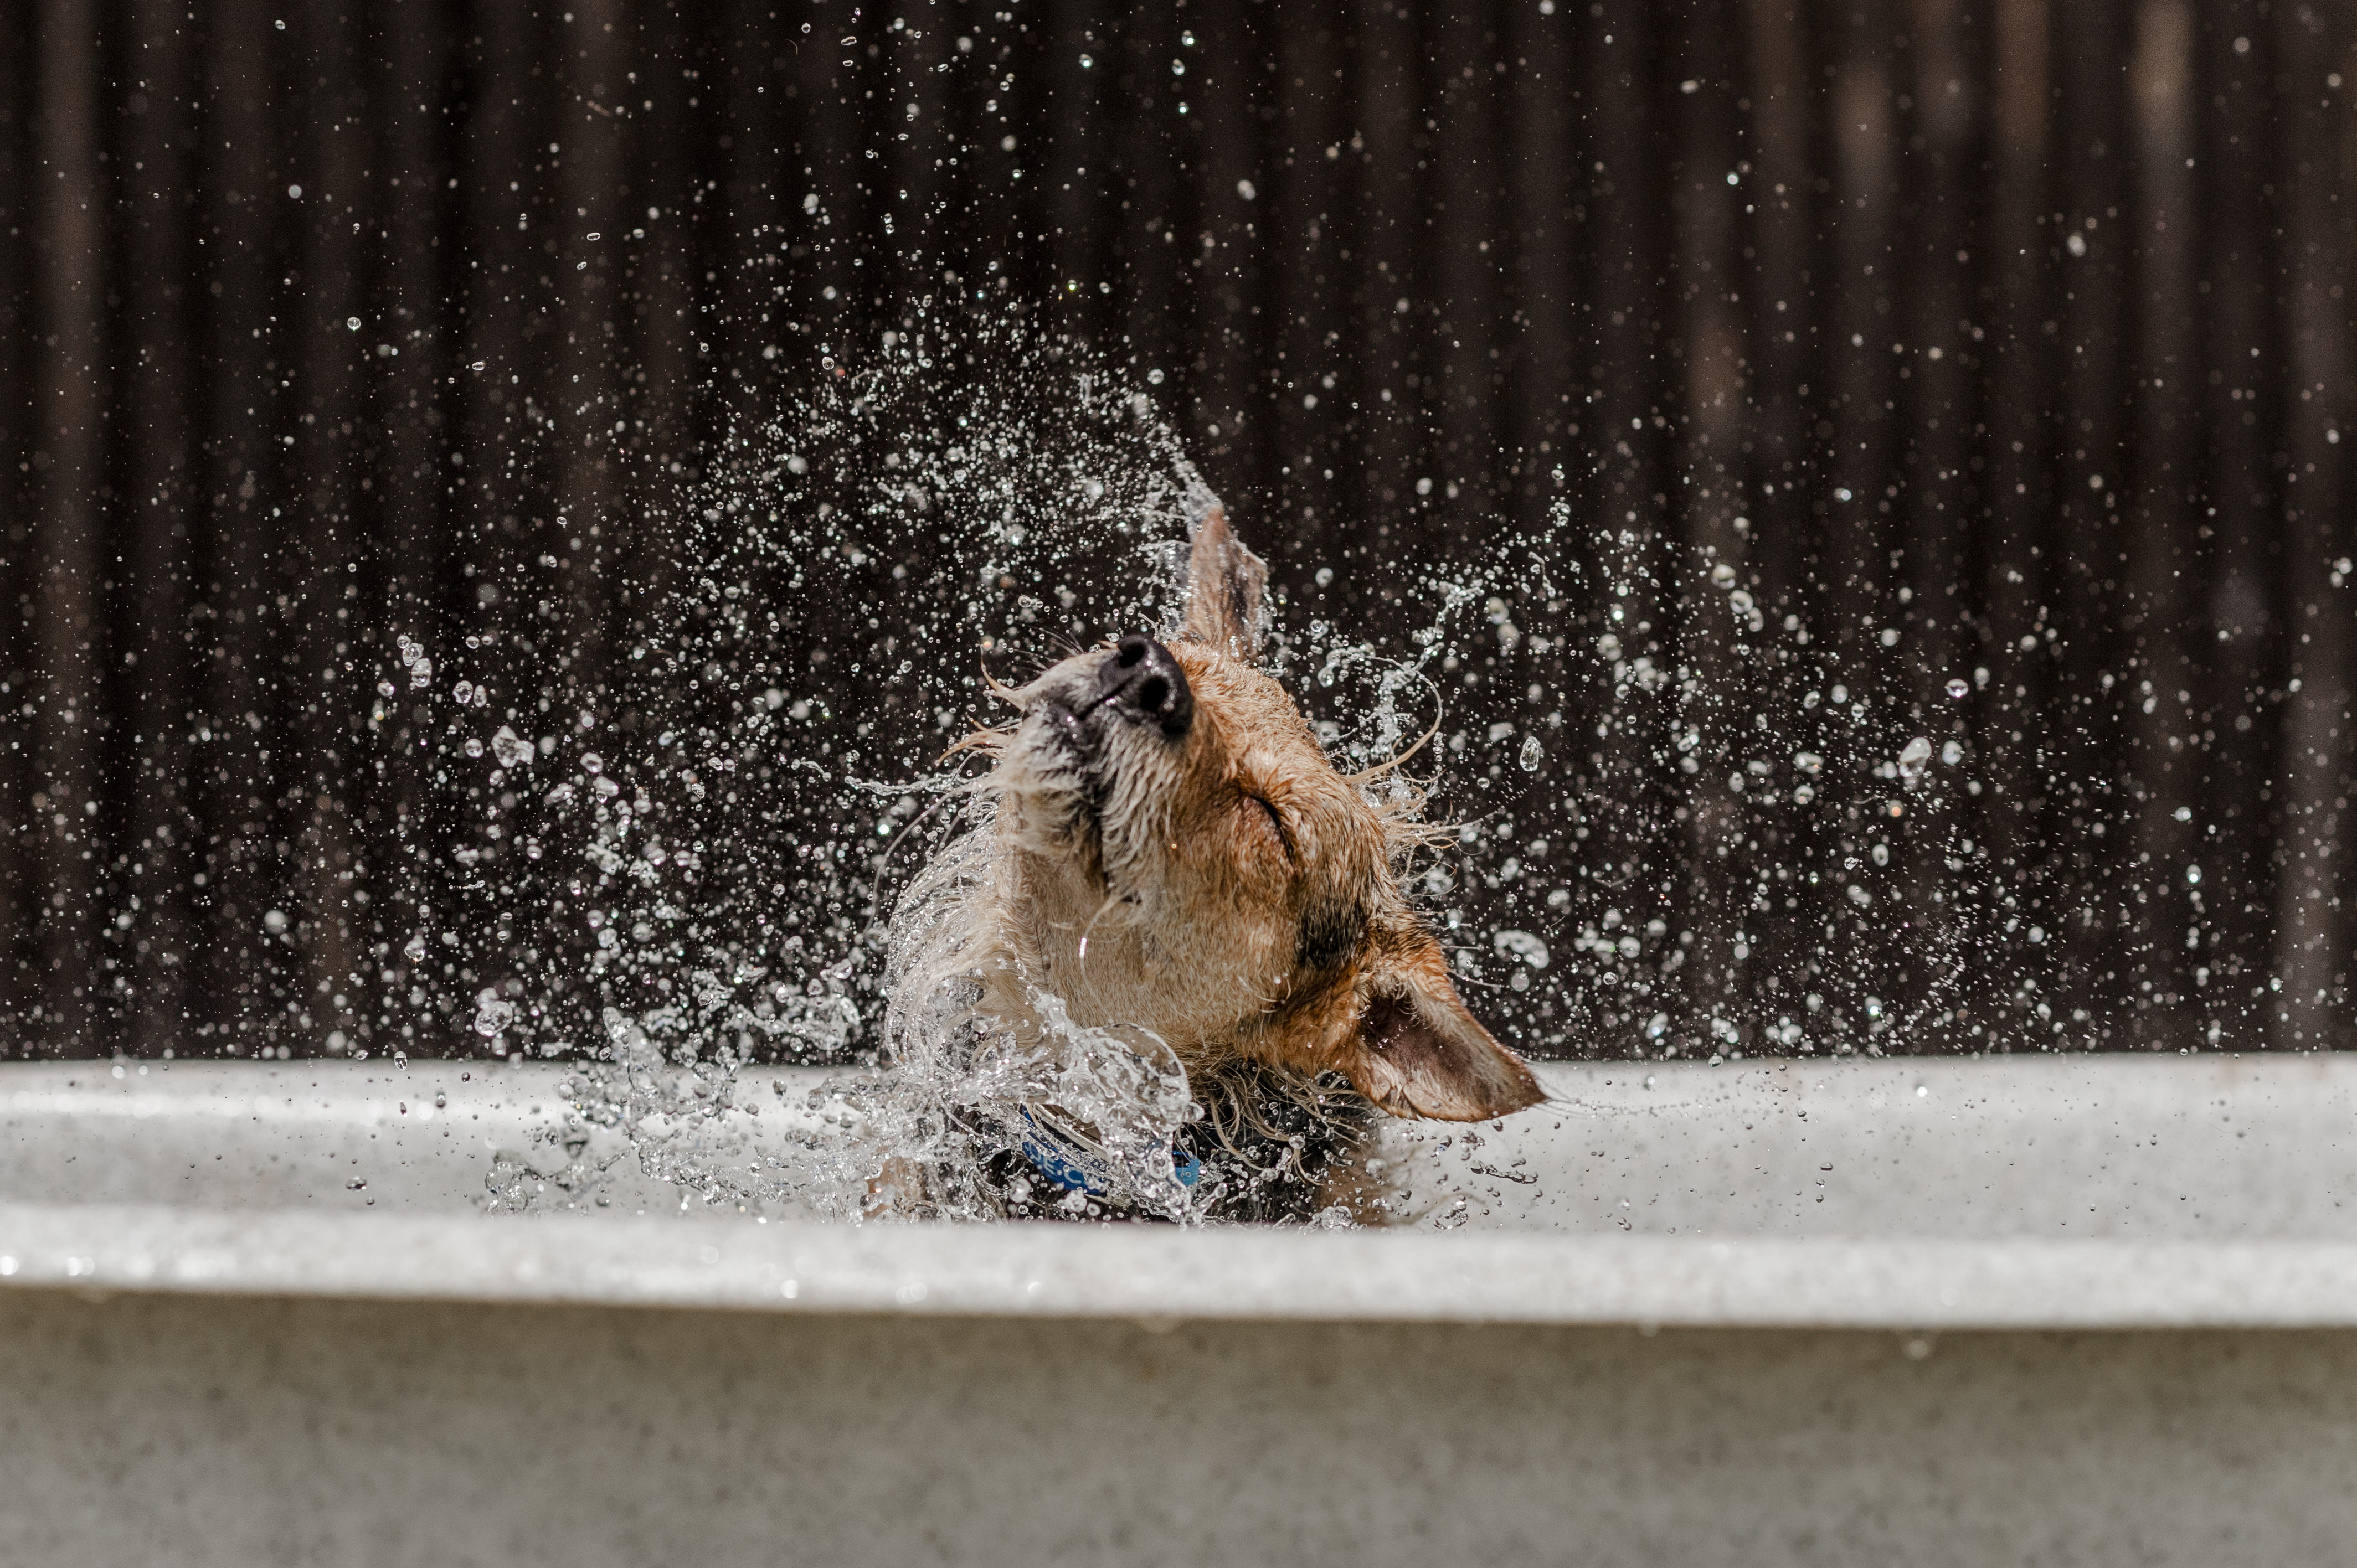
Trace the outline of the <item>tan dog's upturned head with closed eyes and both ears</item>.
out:
M 1263 582 L 1211 505 L 1183 634 L 1009 693 L 1023 717 L 990 778 L 1009 946 L 1077 1023 L 1143 1026 L 1190 1063 L 1339 1070 L 1393 1115 L 1537 1103 L 1400 891 L 1414 823 L 1336 773 L 1256 667 Z

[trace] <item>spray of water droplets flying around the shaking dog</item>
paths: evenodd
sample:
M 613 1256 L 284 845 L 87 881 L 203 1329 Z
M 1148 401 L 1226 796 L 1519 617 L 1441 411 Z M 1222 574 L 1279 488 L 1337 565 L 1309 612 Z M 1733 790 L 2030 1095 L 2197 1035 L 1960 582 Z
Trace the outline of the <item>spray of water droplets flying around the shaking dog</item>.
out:
M 825 356 L 641 523 L 660 571 L 620 686 L 552 681 L 537 724 L 493 724 L 509 677 L 469 639 L 441 700 L 476 773 L 431 832 L 405 825 L 448 846 L 422 858 L 464 917 L 443 976 L 420 931 L 387 981 L 483 981 L 457 1004 L 490 1049 L 577 1061 L 577 1115 L 705 1203 L 856 1214 L 898 1155 L 943 1172 L 938 1212 L 978 1214 L 981 1160 L 1032 1139 L 1197 1214 L 1169 1047 L 964 962 L 992 806 L 933 759 L 985 665 L 1171 627 L 1200 481 L 1131 368 L 1014 323 L 910 325 L 858 368 Z M 1285 542 L 1282 519 L 1242 526 Z M 1961 722 L 1935 750 L 1897 677 L 1775 630 L 1737 559 L 1567 502 L 1468 559 L 1270 559 L 1270 660 L 1336 769 L 1431 740 L 1454 830 L 1409 884 L 1520 1049 L 1874 1052 L 2053 1019 L 2006 962 L 2039 938 L 1956 809 L 1980 792 Z M 1409 625 L 1376 646 L 1351 604 Z M 398 655 L 431 693 L 424 644 Z M 1021 988 L 1042 1035 L 981 1026 L 985 986 Z M 761 1063 L 841 1075 L 761 1094 Z

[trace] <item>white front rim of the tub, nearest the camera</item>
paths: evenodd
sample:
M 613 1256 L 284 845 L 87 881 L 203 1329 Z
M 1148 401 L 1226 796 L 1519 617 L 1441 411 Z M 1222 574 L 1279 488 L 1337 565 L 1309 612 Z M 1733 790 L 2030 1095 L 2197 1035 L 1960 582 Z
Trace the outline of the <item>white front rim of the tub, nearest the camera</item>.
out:
M 0 1287 L 825 1316 L 2357 1327 L 2352 1243 L 672 1226 L 0 1205 Z

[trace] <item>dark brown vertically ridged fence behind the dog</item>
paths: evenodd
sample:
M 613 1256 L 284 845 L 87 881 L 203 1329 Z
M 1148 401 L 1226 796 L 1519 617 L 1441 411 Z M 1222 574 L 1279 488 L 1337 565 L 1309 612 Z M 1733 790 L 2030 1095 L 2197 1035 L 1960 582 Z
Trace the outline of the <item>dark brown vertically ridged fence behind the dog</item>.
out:
M 1697 632 L 1702 549 L 1893 736 L 1968 745 L 1987 792 L 1838 943 L 1883 785 L 1829 769 L 1831 825 L 1772 830 L 1659 752 L 1615 868 L 1648 759 L 1553 747 L 1511 849 L 1567 898 L 1516 908 L 1504 849 L 1459 891 L 1556 943 L 1546 1000 L 1499 1000 L 1525 1047 L 1775 1049 L 1803 988 L 1860 1030 L 1867 990 L 1921 1002 L 1869 1049 L 2350 1035 L 2348 7 L 28 0 L 0 31 L 12 1049 L 453 1049 L 497 957 L 420 990 L 398 953 L 467 894 L 410 842 L 403 714 L 368 719 L 394 632 L 497 627 L 559 710 L 613 698 L 679 578 L 646 519 L 731 413 L 919 302 L 1167 370 L 1289 604 L 1376 641 L 1424 625 L 1386 564 L 1567 505 L 1584 587 L 1499 611 L 1553 655 L 1468 651 L 1475 752 L 1525 674 L 1593 731 L 1615 587 L 1664 665 L 1789 698 Z M 820 604 L 778 637 L 865 634 Z M 813 700 L 858 693 L 834 670 Z M 1723 783 L 1747 729 L 1702 733 Z M 1513 783 L 1457 766 L 1475 811 Z M 1676 974 L 1598 915 L 1631 875 Z M 837 882 L 813 946 L 851 953 Z M 1909 898 L 1968 929 L 1909 943 Z

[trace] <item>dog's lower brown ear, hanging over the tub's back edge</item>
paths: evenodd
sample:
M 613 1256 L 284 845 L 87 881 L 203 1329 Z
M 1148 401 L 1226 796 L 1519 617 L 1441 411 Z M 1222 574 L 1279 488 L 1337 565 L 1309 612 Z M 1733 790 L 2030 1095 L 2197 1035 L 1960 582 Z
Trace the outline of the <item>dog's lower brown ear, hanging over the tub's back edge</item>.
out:
M 1447 955 L 1421 927 L 1376 934 L 1360 990 L 1367 1009 L 1341 1070 L 1391 1115 L 1480 1122 L 1546 1099 L 1520 1056 L 1466 1012 Z

